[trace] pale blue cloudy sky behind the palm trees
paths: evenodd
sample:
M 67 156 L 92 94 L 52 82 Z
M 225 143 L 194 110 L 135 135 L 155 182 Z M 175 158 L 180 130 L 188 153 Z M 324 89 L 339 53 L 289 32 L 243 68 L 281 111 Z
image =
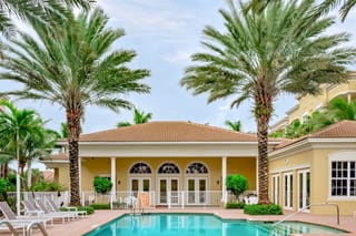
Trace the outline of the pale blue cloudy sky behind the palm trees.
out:
M 251 103 L 245 102 L 238 109 L 230 109 L 233 98 L 207 103 L 207 94 L 192 95 L 179 85 L 190 55 L 204 51 L 205 25 L 224 30 L 218 9 L 226 9 L 224 0 L 98 0 L 97 3 L 109 16 L 109 27 L 121 28 L 126 35 L 112 47 L 130 49 L 137 57 L 130 68 L 148 69 L 151 75 L 144 80 L 151 86 L 151 92 L 144 95 L 129 95 L 136 107 L 145 113 L 152 113 L 151 121 L 191 121 L 200 124 L 227 127 L 226 120 L 240 121 L 244 132 L 255 132 L 256 123 L 250 112 Z M 330 32 L 355 30 L 352 22 L 356 16 L 352 12 L 345 23 L 335 24 Z M 355 37 L 353 37 L 354 45 Z M 0 88 L 14 88 L 13 82 L 0 81 Z M 16 102 L 20 109 L 38 111 L 47 126 L 60 130 L 65 122 L 65 110 L 47 101 Z M 297 102 L 293 95 L 283 94 L 275 102 L 275 114 L 270 124 L 281 120 L 286 111 Z M 121 110 L 113 113 L 108 109 L 87 106 L 83 133 L 115 129 L 121 121 L 132 122 L 132 111 Z

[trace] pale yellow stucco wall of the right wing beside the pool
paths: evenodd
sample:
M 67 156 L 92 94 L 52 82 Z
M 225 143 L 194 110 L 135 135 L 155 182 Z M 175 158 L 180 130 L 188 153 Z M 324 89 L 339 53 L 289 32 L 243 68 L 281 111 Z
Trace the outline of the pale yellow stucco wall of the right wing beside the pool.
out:
M 310 203 L 312 204 L 337 204 L 340 215 L 352 215 L 356 209 L 355 198 L 329 197 L 329 155 L 343 152 L 340 150 L 324 148 L 309 150 L 298 154 L 284 155 L 269 162 L 269 189 L 271 191 L 271 176 L 279 175 L 279 204 L 284 206 L 284 173 L 293 173 L 293 209 L 298 209 L 298 171 L 310 170 Z M 271 193 L 270 193 L 271 196 Z M 336 214 L 334 206 L 312 206 L 312 214 Z

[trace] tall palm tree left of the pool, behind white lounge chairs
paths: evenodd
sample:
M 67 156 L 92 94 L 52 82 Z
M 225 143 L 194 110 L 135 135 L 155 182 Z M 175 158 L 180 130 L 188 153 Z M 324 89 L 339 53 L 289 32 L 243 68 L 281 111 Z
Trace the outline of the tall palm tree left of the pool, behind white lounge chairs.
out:
M 68 125 L 70 204 L 80 205 L 78 138 L 87 105 L 118 111 L 131 109 L 122 94 L 148 93 L 141 80 L 148 70 L 130 70 L 127 65 L 135 51 L 110 50 L 125 32 L 108 29 L 108 17 L 100 9 L 81 12 L 65 22 L 52 23 L 52 31 L 32 21 L 38 37 L 20 32 L 7 48 L 2 80 L 23 85 L 22 90 L 4 92 L 19 99 L 47 100 L 66 110 Z M 0 93 L 1 95 L 1 93 Z

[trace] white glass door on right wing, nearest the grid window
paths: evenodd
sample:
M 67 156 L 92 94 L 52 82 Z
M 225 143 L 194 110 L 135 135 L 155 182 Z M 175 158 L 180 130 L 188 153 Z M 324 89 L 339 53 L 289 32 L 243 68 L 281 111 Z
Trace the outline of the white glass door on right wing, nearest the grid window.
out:
M 310 205 L 310 171 L 298 172 L 298 209 L 308 212 Z

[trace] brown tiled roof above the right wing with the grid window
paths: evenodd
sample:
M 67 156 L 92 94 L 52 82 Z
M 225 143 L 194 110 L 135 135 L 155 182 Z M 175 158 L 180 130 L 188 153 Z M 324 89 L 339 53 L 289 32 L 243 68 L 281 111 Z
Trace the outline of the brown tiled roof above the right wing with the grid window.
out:
M 336 124 L 332 124 L 325 129 L 322 129 L 317 132 L 305 135 L 300 138 L 285 141 L 279 145 L 277 145 L 275 150 L 289 146 L 294 143 L 298 143 L 307 138 L 348 138 L 348 137 L 356 138 L 356 121 L 340 121 Z

